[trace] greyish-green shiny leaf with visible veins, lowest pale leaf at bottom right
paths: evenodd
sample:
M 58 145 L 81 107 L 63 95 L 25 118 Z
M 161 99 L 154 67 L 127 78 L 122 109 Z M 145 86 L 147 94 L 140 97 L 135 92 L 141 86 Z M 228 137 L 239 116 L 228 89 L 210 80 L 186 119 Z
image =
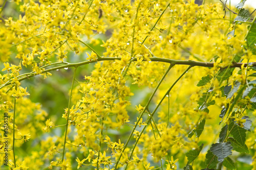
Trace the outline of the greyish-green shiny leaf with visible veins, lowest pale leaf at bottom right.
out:
M 231 146 L 231 142 L 224 143 L 214 143 L 210 147 L 210 151 L 218 157 L 219 162 L 223 162 L 224 158 L 232 154 L 233 147 Z

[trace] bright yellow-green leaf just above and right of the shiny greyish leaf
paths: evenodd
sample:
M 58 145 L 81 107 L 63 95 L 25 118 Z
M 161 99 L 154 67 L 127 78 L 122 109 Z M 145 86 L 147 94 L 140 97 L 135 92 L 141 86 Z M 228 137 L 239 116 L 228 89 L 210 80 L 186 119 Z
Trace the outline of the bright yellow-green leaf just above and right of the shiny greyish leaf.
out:
M 233 138 L 242 146 L 245 144 L 246 130 L 234 124 L 233 121 L 228 125 L 228 130 L 231 131 L 230 134 Z

